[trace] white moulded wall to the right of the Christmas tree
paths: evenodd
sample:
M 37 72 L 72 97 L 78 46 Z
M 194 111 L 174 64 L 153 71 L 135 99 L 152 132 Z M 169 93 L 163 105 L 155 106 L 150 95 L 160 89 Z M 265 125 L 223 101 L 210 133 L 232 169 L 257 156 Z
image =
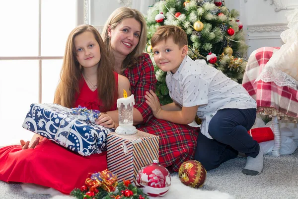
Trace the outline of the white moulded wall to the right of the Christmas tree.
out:
M 298 0 L 225 0 L 240 12 L 239 19 L 250 46 L 247 55 L 263 46 L 282 46 L 280 34 L 287 29 L 285 14 L 298 8 Z

